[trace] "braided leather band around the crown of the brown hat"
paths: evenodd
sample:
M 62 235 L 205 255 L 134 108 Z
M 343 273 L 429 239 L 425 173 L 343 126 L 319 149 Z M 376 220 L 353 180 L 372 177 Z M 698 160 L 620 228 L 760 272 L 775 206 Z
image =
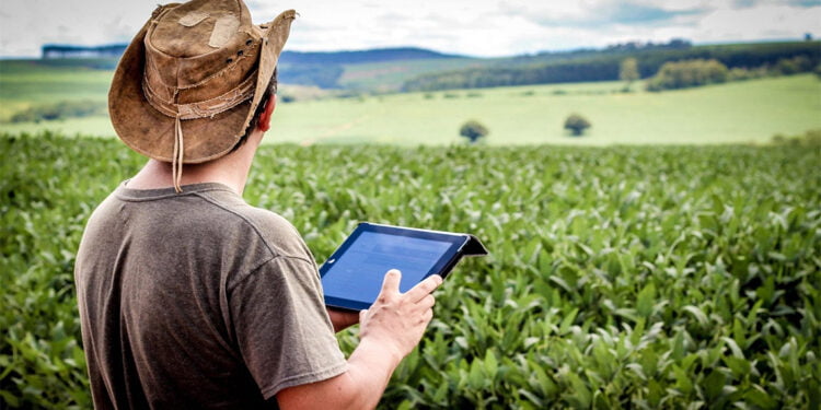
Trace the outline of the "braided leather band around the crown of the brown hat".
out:
M 180 119 L 212 118 L 217 114 L 224 113 L 243 102 L 251 99 L 251 97 L 254 96 L 255 87 L 256 70 L 251 72 L 240 85 L 229 90 L 222 95 L 197 103 L 176 104 L 160 97 L 160 95 L 151 89 L 151 83 L 148 81 L 148 77 L 144 73 L 142 75 L 142 93 L 146 95 L 148 103 L 158 112 L 169 117 Z M 175 95 L 177 91 L 174 92 Z

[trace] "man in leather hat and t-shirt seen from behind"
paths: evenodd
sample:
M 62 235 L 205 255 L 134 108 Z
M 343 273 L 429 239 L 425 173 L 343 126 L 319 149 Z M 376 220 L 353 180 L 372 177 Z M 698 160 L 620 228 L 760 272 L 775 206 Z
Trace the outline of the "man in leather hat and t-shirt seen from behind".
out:
M 294 16 L 254 26 L 241 0 L 167 4 L 123 56 L 112 121 L 150 159 L 77 256 L 97 409 L 373 408 L 430 321 L 441 278 L 403 294 L 397 271 L 368 311 L 327 312 L 296 230 L 241 198 Z M 356 323 L 345 360 L 333 332 Z

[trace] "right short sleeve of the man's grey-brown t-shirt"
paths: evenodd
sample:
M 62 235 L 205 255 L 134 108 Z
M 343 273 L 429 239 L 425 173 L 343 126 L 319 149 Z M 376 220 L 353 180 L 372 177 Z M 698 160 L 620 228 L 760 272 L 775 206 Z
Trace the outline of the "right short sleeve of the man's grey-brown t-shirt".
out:
M 265 399 L 347 370 L 316 268 L 279 256 L 229 292 L 235 340 Z

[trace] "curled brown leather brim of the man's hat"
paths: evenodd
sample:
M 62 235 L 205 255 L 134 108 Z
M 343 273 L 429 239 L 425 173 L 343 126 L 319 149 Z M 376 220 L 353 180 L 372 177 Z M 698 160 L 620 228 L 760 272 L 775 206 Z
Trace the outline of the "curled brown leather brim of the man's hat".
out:
M 181 121 L 183 136 L 192 136 L 185 138 L 183 163 L 210 161 L 227 154 L 236 145 L 265 94 L 294 16 L 296 12 L 288 10 L 270 23 L 263 24 L 268 28 L 263 35 L 256 91 L 252 99 L 212 118 Z M 176 119 L 152 107 L 142 92 L 146 63 L 143 39 L 150 24 L 151 20 L 137 33 L 117 65 L 108 91 L 108 115 L 115 132 L 126 145 L 154 160 L 172 162 Z

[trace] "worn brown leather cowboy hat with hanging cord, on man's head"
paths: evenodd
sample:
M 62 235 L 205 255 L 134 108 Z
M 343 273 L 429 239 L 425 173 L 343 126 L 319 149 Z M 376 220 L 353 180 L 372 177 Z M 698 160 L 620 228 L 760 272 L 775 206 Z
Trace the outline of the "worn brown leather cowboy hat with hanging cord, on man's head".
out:
M 244 134 L 296 14 L 256 26 L 242 0 L 160 5 L 114 73 L 108 113 L 119 138 L 171 162 L 178 189 L 182 164 L 220 157 Z

